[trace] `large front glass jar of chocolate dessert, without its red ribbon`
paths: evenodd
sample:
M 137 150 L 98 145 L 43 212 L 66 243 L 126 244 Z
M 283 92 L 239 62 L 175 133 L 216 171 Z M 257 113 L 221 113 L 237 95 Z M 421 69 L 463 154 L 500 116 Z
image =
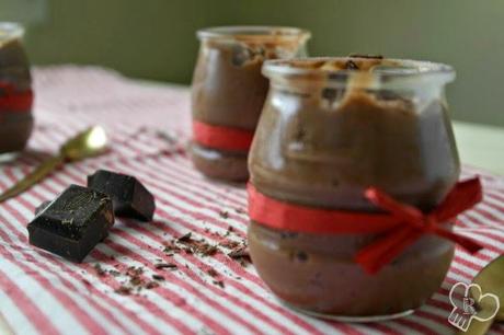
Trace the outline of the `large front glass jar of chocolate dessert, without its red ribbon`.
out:
M 267 61 L 263 73 L 270 93 L 249 158 L 251 184 L 261 194 L 375 213 L 364 195 L 373 185 L 428 212 L 457 182 L 445 100 L 450 67 L 356 56 Z M 378 238 L 299 233 L 256 221 L 248 232 L 253 263 L 282 301 L 351 321 L 420 307 L 440 287 L 454 256 L 451 242 L 424 235 L 370 275 L 354 258 Z

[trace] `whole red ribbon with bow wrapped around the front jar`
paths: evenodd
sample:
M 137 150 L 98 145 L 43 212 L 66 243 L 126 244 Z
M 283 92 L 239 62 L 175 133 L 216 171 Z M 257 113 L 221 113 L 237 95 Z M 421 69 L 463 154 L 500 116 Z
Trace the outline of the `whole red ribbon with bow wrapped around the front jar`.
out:
M 369 274 L 379 272 L 424 234 L 456 242 L 470 253 L 482 249 L 478 242 L 445 227 L 451 224 L 457 215 L 481 201 L 482 188 L 478 177 L 455 185 L 443 203 L 428 213 L 402 204 L 376 187 L 368 188 L 365 196 L 387 212 L 354 212 L 288 204 L 259 193 L 250 183 L 248 192 L 251 220 L 270 228 L 321 234 L 386 233 L 355 256 Z

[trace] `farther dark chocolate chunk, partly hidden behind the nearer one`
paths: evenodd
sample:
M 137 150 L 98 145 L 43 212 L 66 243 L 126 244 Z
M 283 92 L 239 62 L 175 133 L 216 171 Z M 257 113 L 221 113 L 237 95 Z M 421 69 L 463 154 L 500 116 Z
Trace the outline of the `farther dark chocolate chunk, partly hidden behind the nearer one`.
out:
M 99 170 L 88 176 L 88 187 L 107 194 L 117 217 L 151 221 L 156 204 L 152 194 L 130 175 Z

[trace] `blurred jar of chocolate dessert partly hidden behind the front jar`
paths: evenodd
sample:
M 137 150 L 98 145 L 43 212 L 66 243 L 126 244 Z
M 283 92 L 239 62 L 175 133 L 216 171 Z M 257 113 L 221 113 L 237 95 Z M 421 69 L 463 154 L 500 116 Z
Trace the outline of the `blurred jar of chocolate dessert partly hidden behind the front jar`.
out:
M 247 157 L 266 97 L 266 59 L 306 56 L 310 33 L 295 27 L 228 26 L 198 31 L 193 77 L 193 163 L 226 181 L 249 177 Z

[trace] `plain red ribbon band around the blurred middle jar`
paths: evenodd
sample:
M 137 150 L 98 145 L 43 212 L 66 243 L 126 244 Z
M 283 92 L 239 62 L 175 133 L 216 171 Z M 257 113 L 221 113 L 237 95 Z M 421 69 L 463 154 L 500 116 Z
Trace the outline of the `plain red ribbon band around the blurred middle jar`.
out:
M 202 146 L 230 151 L 249 151 L 254 132 L 240 128 L 193 122 L 193 140 Z

